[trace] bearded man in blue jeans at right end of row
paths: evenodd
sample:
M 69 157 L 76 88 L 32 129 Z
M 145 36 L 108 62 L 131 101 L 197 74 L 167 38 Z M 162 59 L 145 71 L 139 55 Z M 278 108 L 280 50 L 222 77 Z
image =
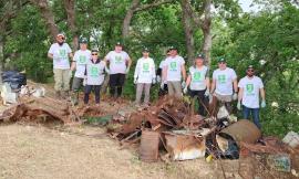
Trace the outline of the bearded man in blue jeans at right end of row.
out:
M 259 97 L 261 97 L 260 107 L 266 107 L 265 90 L 261 78 L 255 76 L 252 65 L 249 65 L 246 71 L 246 76 L 239 81 L 239 94 L 237 108 L 241 109 L 243 117 L 249 119 L 251 113 L 254 123 L 260 128 L 259 123 Z

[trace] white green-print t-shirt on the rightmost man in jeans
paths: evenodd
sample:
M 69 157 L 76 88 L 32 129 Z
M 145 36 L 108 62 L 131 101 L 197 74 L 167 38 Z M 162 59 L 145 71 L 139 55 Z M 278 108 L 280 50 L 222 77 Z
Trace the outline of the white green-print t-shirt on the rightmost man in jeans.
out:
M 259 108 L 259 90 L 264 88 L 264 84 L 258 76 L 249 78 L 245 76 L 238 84 L 243 88 L 241 104 L 249 108 Z

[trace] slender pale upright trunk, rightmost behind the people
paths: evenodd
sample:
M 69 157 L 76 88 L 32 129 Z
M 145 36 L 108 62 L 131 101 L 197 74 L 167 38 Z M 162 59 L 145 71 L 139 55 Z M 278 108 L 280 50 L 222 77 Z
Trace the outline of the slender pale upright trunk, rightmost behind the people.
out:
M 210 17 L 210 6 L 212 0 L 206 0 L 205 2 L 205 19 L 202 25 L 202 30 L 204 33 L 204 44 L 203 44 L 203 51 L 206 56 L 206 65 L 210 66 L 210 49 L 212 49 L 212 17 Z

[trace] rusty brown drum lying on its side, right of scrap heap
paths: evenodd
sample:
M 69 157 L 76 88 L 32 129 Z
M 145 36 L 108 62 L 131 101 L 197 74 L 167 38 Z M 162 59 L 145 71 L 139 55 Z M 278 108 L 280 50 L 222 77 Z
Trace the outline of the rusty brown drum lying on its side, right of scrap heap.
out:
M 223 137 L 229 135 L 238 145 L 240 141 L 254 144 L 261 137 L 261 131 L 252 122 L 240 119 L 223 129 L 219 135 Z

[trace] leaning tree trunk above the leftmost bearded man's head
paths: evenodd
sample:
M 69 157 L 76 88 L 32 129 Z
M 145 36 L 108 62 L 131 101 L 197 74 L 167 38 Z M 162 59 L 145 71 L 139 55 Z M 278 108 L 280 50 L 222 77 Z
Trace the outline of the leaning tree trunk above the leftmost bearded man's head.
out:
M 59 33 L 59 29 L 54 21 L 54 15 L 49 7 L 49 3 L 47 0 L 30 0 L 33 4 L 35 4 L 40 12 L 42 18 L 45 21 L 45 24 L 51 33 L 51 36 L 53 40 L 55 40 L 56 34 Z

